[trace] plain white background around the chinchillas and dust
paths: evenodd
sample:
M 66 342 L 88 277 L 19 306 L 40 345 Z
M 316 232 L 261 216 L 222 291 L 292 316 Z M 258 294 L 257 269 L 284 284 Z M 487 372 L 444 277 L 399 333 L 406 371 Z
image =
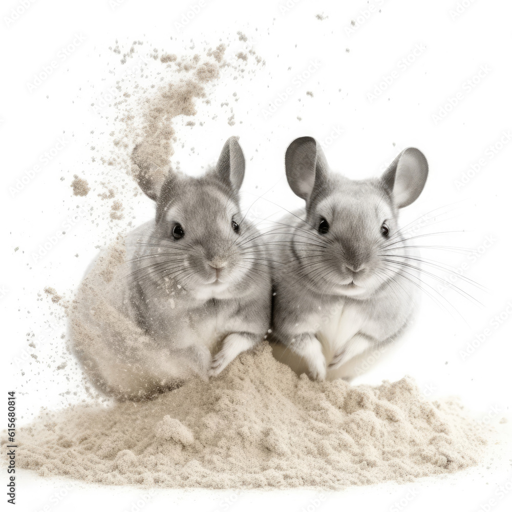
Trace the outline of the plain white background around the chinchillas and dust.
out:
M 40 407 L 61 407 L 84 396 L 76 372 L 74 376 L 68 372 L 71 377 L 67 381 L 52 366 L 62 351 L 62 319 L 57 318 L 60 327 L 38 347 L 39 361 L 20 358 L 30 352 L 26 334 L 40 336 L 46 323 L 58 316 L 58 308 L 48 302 L 42 289 L 52 286 L 69 292 L 76 287 L 97 251 L 95 246 L 105 244 L 115 234 L 107 222 L 98 226 L 81 222 L 44 258 L 36 262 L 32 258 L 39 244 L 59 231 L 74 208 L 93 204 L 91 197 L 71 196 L 73 174 L 97 184 L 102 173 L 111 172 L 98 162 L 91 163 L 90 147 L 91 131 L 104 147 L 110 143 L 107 111 L 97 114 L 91 109 L 105 83 L 115 81 L 109 71 L 119 68 L 119 55 L 108 48 L 115 46 L 116 39 L 121 44 L 140 39 L 148 42 L 148 47 L 181 53 L 190 40 L 198 46 L 201 41 L 215 46 L 221 38 L 233 40 L 241 30 L 253 40 L 266 63 L 252 80 L 243 81 L 236 89 L 240 98 L 234 110 L 237 124 L 231 127 L 226 116 L 219 115 L 205 123 L 204 130 L 191 131 L 186 137 L 178 133 L 186 143 L 177 148 L 173 158 L 180 161 L 183 170 L 197 174 L 202 165 L 215 160 L 228 136 L 240 135 L 248 160 L 244 206 L 249 208 L 265 191 L 268 201 L 259 200 L 252 212 L 267 217 L 272 212 L 280 215 L 282 210 L 275 202 L 287 208 L 301 205 L 284 179 L 284 151 L 295 137 L 312 135 L 322 140 L 331 167 L 353 178 L 377 176 L 404 147 L 419 147 L 429 160 L 430 176 L 420 199 L 403 211 L 402 224 L 436 209 L 435 218 L 422 218 L 421 233 L 464 231 L 420 240 L 424 245 L 462 247 L 473 252 L 431 249 L 423 254 L 456 270 L 467 264 L 464 277 L 454 284 L 482 305 L 454 290 L 427 288 L 437 303 L 425 295 L 414 328 L 392 354 L 382 356 L 379 364 L 357 382 L 378 384 L 383 378 L 410 374 L 425 394 L 459 395 L 477 419 L 492 422 L 505 439 L 507 424 L 498 421 L 508 417 L 510 405 L 512 322 L 507 321 L 507 303 L 512 301 L 512 143 L 499 149 L 490 147 L 512 130 L 510 3 L 465 0 L 457 7 L 455 0 L 373 4 L 362 0 L 300 0 L 283 8 L 285 0 L 260 0 L 256 4 L 205 0 L 194 19 L 183 29 L 177 28 L 175 22 L 194 4 L 198 2 L 35 1 L 10 23 L 6 17 L 12 16 L 11 9 L 18 8 L 20 2 L 2 3 L 2 389 L 18 392 L 18 423 L 28 422 Z M 456 9 L 460 14 L 451 12 Z M 328 17 L 319 20 L 316 14 Z M 353 26 L 352 19 L 356 22 Z M 73 41 L 75 34 L 83 36 L 84 42 L 30 92 L 27 82 L 33 81 L 34 74 Z M 414 48 L 422 50 L 413 56 Z M 403 58 L 407 64 L 401 63 Z M 311 60 L 321 62 L 318 70 L 301 87 L 295 87 L 294 77 L 303 73 Z M 483 78 L 475 78 L 482 69 L 486 70 Z M 266 116 L 264 109 L 289 87 L 291 96 L 274 114 Z M 307 96 L 306 91 L 314 96 Z M 379 95 L 371 98 L 370 92 Z M 458 103 L 450 109 L 449 102 L 457 94 Z M 213 108 L 222 101 L 211 99 Z M 451 111 L 443 114 L 445 105 Z M 198 106 L 200 114 L 201 108 Z M 441 119 L 436 120 L 440 114 Z M 329 139 L 337 132 L 342 134 Z M 13 196 L 9 187 L 62 136 L 68 141 L 65 150 Z M 190 152 L 191 146 L 195 153 Z M 473 173 L 464 186 L 457 186 L 457 180 L 479 159 L 483 159 L 480 172 Z M 124 179 L 121 175 L 118 178 Z M 152 215 L 151 201 L 146 198 L 134 199 L 130 208 L 135 223 Z M 482 245 L 485 240 L 490 241 L 487 247 Z M 474 257 L 470 258 L 471 254 Z M 439 269 L 430 270 L 446 278 Z M 466 283 L 465 278 L 488 291 Z M 437 286 L 435 281 L 431 285 Z M 502 314 L 503 321 L 495 329 L 491 322 L 497 314 Z M 467 350 L 484 329 L 490 333 L 485 342 L 469 357 L 461 356 L 460 351 Z M 18 362 L 14 362 L 16 357 Z M 68 389 L 76 395 L 59 395 Z M 491 449 L 494 455 L 489 453 L 480 466 L 467 472 L 409 486 L 386 484 L 326 493 L 327 498 L 319 500 L 316 508 L 401 510 L 405 506 L 411 511 L 434 507 L 476 511 L 487 505 L 487 510 L 508 510 L 512 499 L 508 495 L 497 498 L 495 493 L 500 485 L 512 488 L 510 450 L 505 444 L 493 444 Z M 6 480 L 6 473 L 2 475 L 0 481 Z M 130 510 L 145 493 L 141 489 L 42 479 L 22 471 L 17 473 L 16 482 L 21 510 L 42 510 L 45 506 L 47 510 Z M 242 492 L 233 501 L 229 490 L 171 489 L 155 491 L 143 508 L 236 511 L 263 506 L 302 510 L 310 506 L 311 510 L 310 500 L 318 496 L 315 490 L 305 489 Z M 492 499 L 495 502 L 490 502 Z M 393 508 L 400 500 L 398 508 Z M 139 508 L 141 504 L 139 501 Z

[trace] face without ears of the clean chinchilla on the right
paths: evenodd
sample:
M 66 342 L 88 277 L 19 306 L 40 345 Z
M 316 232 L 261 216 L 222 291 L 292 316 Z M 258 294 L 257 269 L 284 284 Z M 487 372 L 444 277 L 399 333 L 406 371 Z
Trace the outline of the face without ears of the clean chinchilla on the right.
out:
M 311 243 L 302 237 L 294 243 L 311 263 L 308 277 L 318 289 L 355 296 L 392 279 L 396 269 L 386 253 L 398 240 L 396 212 L 376 181 L 332 177 L 329 194 L 311 202 L 307 222 L 301 229 L 309 230 Z

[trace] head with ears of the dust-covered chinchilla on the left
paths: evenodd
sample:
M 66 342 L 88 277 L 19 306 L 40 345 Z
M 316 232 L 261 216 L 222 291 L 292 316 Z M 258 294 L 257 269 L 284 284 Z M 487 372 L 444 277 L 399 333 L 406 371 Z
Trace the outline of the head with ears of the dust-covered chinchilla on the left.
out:
M 137 146 L 132 161 L 142 189 L 156 201 L 157 215 L 154 231 L 140 242 L 137 265 L 145 273 L 138 272 L 138 279 L 172 282 L 210 298 L 244 279 L 257 279 L 257 232 L 244 222 L 238 202 L 245 172 L 238 139 L 226 141 L 217 165 L 200 178 L 151 172 L 140 153 Z

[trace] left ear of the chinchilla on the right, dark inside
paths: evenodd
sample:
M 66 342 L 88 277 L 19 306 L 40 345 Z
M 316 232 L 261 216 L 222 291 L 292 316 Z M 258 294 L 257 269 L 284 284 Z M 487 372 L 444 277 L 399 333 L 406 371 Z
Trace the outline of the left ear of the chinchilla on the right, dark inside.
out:
M 295 139 L 286 150 L 286 178 L 294 193 L 309 204 L 327 178 L 328 165 L 320 144 L 313 137 Z

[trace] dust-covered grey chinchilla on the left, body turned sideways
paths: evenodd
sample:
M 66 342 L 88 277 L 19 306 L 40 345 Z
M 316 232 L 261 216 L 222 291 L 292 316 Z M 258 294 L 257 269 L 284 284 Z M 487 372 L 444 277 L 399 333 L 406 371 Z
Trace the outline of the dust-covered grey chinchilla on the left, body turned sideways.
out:
M 237 138 L 199 178 L 149 172 L 139 146 L 132 161 L 155 219 L 100 254 L 71 313 L 72 348 L 86 374 L 121 399 L 218 375 L 264 343 L 271 308 L 266 248 L 240 211 Z

